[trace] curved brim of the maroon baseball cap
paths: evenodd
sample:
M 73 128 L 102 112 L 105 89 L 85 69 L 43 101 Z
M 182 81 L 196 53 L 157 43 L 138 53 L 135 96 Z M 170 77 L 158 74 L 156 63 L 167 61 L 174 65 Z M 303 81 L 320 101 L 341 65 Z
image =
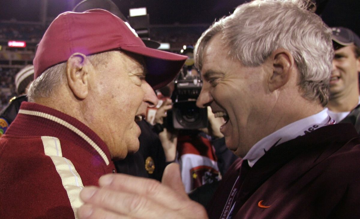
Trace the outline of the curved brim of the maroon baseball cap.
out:
M 144 56 L 148 73 L 146 81 L 157 90 L 170 83 L 180 72 L 188 56 L 151 49 L 148 47 L 126 46 L 121 49 Z

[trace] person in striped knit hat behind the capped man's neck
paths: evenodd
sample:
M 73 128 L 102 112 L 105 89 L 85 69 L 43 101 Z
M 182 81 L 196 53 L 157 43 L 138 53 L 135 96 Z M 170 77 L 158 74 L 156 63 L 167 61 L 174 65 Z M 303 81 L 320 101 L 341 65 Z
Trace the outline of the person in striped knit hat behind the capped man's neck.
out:
M 31 82 L 34 80 L 34 66 L 27 65 L 15 75 L 15 88 L 17 96 L 10 99 L 8 106 L 0 111 L 0 137 L 15 119 L 20 105 L 27 101 L 27 91 Z

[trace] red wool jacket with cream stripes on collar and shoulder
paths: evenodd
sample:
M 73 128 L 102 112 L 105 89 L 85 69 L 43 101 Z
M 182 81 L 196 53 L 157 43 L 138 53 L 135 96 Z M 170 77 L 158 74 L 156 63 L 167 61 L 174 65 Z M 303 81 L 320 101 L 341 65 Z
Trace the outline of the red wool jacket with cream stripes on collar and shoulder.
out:
M 23 102 L 0 138 L 0 218 L 75 218 L 82 187 L 113 170 L 107 146 L 90 128 Z

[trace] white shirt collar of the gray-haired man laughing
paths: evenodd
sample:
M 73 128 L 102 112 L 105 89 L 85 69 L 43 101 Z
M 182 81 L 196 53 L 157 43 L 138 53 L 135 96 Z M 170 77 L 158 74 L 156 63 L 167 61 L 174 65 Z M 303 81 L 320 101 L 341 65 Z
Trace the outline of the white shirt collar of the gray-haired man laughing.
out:
M 317 114 L 297 120 L 262 138 L 251 147 L 243 159 L 248 160 L 249 166 L 252 167 L 271 147 L 310 133 L 320 127 L 334 124 L 335 120 L 330 118 L 327 111 L 328 109 L 325 108 Z

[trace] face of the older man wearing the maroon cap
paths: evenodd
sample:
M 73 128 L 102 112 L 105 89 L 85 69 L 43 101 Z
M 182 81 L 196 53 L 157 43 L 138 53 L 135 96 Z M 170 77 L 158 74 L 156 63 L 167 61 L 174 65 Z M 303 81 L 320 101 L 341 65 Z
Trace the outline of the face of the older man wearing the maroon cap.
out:
M 94 74 L 91 84 L 91 128 L 107 144 L 112 159 L 123 159 L 139 149 L 137 121 L 145 117 L 157 97 L 145 81 L 146 67 L 140 55 L 112 51 Z

